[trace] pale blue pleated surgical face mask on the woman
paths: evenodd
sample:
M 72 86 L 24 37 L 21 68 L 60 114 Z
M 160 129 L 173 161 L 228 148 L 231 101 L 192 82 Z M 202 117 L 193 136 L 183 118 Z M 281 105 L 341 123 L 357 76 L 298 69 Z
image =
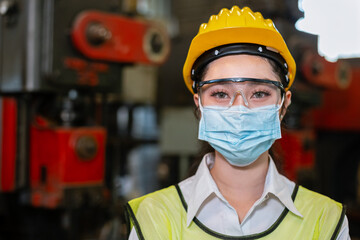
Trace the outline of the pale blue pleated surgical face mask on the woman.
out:
M 242 105 L 206 108 L 200 103 L 198 138 L 209 142 L 230 164 L 250 165 L 281 138 L 282 103 L 253 109 Z

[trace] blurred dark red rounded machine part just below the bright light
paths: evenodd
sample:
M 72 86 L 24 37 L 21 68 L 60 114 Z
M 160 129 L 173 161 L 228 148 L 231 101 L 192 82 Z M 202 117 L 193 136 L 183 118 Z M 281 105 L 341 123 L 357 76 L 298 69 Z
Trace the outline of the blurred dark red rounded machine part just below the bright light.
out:
M 351 69 L 344 61 L 328 62 L 313 51 L 306 51 L 301 71 L 311 84 L 326 89 L 344 90 L 351 82 Z

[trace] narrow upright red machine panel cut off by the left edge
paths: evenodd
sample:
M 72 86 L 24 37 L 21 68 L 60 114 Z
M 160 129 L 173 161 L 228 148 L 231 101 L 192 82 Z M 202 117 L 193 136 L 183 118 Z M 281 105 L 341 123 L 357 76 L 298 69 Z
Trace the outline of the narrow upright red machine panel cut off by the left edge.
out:
M 1 159 L 0 191 L 10 192 L 16 188 L 17 103 L 15 98 L 1 98 Z

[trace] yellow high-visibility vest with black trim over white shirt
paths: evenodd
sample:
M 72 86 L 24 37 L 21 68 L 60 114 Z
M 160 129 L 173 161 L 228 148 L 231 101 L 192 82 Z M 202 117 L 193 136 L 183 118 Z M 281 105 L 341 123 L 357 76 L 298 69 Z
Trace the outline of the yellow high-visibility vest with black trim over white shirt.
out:
M 129 231 L 135 227 L 140 240 L 336 239 L 345 217 L 342 204 L 301 186 L 292 198 L 303 218 L 285 208 L 264 232 L 241 237 L 217 233 L 196 217 L 187 227 L 187 204 L 177 185 L 131 200 L 126 212 Z

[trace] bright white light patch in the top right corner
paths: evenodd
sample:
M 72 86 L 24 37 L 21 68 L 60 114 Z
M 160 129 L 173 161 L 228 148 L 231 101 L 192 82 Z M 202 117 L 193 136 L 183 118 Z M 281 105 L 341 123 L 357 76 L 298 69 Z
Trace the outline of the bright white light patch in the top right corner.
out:
M 318 50 L 329 61 L 360 57 L 359 0 L 299 0 L 300 31 L 319 35 Z

